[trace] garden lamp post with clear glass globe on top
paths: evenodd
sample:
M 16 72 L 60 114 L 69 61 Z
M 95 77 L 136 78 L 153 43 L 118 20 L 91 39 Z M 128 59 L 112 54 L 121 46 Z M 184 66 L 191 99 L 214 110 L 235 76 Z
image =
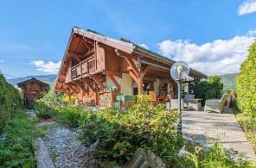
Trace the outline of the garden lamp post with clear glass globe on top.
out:
M 182 136 L 182 108 L 181 108 L 181 84 L 182 80 L 189 76 L 189 65 L 185 62 L 178 61 L 170 68 L 171 78 L 176 80 L 178 86 L 178 124 L 177 134 Z

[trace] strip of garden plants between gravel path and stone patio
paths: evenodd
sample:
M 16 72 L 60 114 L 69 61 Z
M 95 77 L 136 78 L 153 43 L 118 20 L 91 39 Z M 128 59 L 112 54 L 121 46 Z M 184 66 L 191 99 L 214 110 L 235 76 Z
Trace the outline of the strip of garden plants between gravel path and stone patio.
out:
M 77 129 L 84 146 L 99 140 L 96 158 L 100 167 L 125 165 L 138 147 L 155 152 L 168 166 L 252 166 L 242 158 L 230 159 L 221 144 L 214 143 L 203 149 L 177 136 L 176 111 L 166 110 L 161 104 L 153 105 L 149 96 L 138 96 L 138 102 L 126 111 L 113 107 L 97 112 L 84 107 L 61 107 L 61 99 L 59 101 L 46 95 L 35 105 L 37 115 L 44 119 L 54 118 L 68 128 Z

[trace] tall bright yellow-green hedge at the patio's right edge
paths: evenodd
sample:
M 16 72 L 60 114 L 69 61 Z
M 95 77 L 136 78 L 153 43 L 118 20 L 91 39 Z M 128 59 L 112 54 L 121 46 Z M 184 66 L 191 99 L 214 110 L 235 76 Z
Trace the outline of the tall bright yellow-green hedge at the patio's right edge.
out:
M 249 48 L 237 78 L 237 101 L 240 110 L 256 117 L 256 41 Z

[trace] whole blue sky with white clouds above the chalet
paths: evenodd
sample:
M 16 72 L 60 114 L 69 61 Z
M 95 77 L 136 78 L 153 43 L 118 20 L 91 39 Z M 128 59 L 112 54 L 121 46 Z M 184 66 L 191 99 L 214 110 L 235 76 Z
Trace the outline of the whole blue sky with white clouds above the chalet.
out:
M 76 26 L 124 37 L 207 74 L 238 72 L 256 34 L 255 11 L 255 0 L 3 1 L 0 71 L 6 78 L 56 73 Z

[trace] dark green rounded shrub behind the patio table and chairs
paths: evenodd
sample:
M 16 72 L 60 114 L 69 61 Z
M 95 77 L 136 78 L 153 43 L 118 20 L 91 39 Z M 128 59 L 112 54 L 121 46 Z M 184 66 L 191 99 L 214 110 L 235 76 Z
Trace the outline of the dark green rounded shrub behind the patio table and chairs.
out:
M 195 94 L 195 97 L 202 98 L 202 104 L 207 99 L 217 98 L 221 95 L 223 84 L 218 76 L 209 76 L 207 81 L 194 82 L 189 84 L 189 93 Z

